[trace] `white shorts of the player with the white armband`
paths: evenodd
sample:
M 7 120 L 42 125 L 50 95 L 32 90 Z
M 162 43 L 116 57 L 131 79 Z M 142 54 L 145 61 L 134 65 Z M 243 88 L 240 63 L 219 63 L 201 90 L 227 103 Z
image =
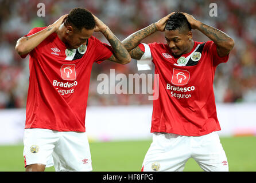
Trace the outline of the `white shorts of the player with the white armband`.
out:
M 199 137 L 153 133 L 142 171 L 183 171 L 189 158 L 204 171 L 228 172 L 227 157 L 216 132 Z

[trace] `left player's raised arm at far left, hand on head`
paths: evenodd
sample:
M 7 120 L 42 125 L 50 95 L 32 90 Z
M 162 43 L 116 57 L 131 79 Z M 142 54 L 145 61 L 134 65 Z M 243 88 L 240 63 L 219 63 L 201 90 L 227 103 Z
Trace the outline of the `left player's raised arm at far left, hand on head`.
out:
M 39 31 L 38 33 L 29 35 L 27 37 L 21 37 L 18 39 L 15 50 L 19 55 L 28 54 L 32 51 L 36 46 L 38 46 L 46 37 L 51 35 L 55 32 L 63 23 L 64 19 L 67 17 L 68 14 L 61 16 L 56 22 L 52 25 L 49 25 L 44 30 Z

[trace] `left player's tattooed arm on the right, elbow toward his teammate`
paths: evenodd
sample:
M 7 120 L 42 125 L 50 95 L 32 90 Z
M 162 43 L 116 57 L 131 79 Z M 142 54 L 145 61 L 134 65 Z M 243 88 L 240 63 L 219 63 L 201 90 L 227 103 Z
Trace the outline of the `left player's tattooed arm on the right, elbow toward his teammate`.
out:
M 96 21 L 96 27 L 94 31 L 101 31 L 113 48 L 114 53 L 110 58 L 108 58 L 108 60 L 121 64 L 129 63 L 131 61 L 131 56 L 125 49 L 125 46 L 123 46 L 122 42 L 119 41 L 119 39 L 113 34 L 108 26 L 100 21 L 99 18 L 95 17 L 95 15 L 94 18 Z

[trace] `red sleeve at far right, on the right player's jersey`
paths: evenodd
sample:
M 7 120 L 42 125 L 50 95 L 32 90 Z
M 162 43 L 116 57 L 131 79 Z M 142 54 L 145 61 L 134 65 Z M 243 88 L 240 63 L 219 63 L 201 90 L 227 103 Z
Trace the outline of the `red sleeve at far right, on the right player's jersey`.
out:
M 208 52 L 212 55 L 212 62 L 214 66 L 218 66 L 220 63 L 226 63 L 228 61 L 229 54 L 224 57 L 220 57 L 217 52 L 217 45 L 213 41 L 207 41 Z

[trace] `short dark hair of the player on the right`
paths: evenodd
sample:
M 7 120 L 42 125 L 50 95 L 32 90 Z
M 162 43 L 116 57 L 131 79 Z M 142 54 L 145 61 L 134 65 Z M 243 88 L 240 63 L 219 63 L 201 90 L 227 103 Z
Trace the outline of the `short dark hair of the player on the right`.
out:
M 191 30 L 191 25 L 183 13 L 177 12 L 170 15 L 166 21 L 165 30 L 179 30 L 181 33 L 185 30 Z

